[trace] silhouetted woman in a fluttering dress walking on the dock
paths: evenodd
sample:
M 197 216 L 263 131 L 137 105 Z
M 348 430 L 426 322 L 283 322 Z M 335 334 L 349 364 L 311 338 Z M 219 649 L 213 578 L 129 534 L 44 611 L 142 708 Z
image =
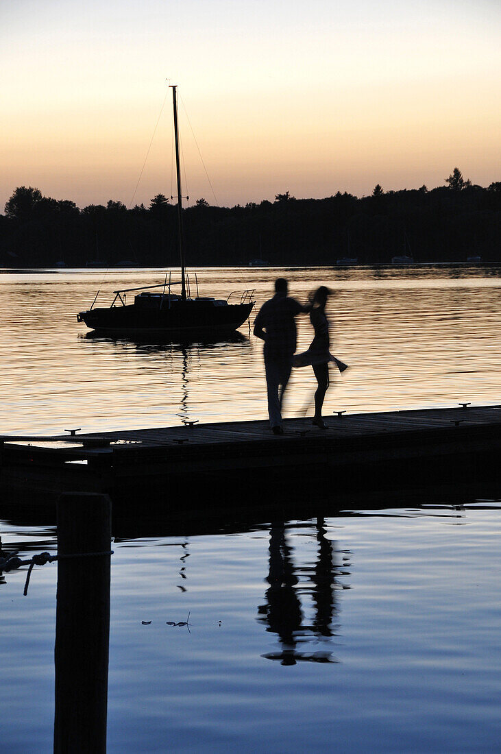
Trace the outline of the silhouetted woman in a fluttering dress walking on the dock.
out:
M 328 321 L 325 316 L 325 304 L 327 303 L 330 291 L 325 285 L 316 289 L 313 296 L 310 296 L 311 311 L 310 320 L 315 330 L 315 337 L 311 342 L 310 348 L 303 354 L 296 354 L 294 357 L 294 366 L 313 366 L 316 382 L 318 387 L 315 391 L 315 415 L 312 424 L 320 429 L 327 429 L 327 425 L 322 419 L 322 406 L 325 393 L 328 388 L 328 363 L 334 361 L 338 369 L 342 372 L 346 369 L 346 364 L 338 361 L 332 356 L 329 349 Z

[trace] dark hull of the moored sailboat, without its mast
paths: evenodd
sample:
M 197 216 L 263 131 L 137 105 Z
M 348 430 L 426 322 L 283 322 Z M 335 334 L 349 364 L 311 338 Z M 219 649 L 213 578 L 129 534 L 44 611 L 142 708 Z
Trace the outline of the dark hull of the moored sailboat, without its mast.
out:
M 249 317 L 253 306 L 254 302 L 217 306 L 188 299 L 160 310 L 140 308 L 135 304 L 96 307 L 81 311 L 77 319 L 103 335 L 208 335 L 234 332 Z

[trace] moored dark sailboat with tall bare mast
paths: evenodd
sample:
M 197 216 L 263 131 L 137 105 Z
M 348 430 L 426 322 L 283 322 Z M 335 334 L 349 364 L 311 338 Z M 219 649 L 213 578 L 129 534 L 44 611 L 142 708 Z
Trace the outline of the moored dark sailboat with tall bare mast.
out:
M 254 291 L 231 293 L 228 299 L 198 295 L 191 298 L 190 283 L 185 269 L 185 244 L 182 222 L 181 170 L 179 167 L 179 130 L 177 86 L 173 90 L 174 136 L 176 143 L 176 174 L 178 191 L 179 257 L 181 279 L 173 281 L 167 275 L 163 283 L 139 288 L 115 290 L 115 298 L 108 307 L 96 307 L 96 299 L 87 311 L 77 314 L 78 322 L 103 335 L 142 336 L 211 336 L 233 333 L 248 319 L 255 305 Z M 181 287 L 179 292 L 173 288 Z M 133 303 L 127 294 L 133 293 Z M 232 301 L 232 296 L 237 296 Z M 240 300 L 239 298 L 240 297 Z

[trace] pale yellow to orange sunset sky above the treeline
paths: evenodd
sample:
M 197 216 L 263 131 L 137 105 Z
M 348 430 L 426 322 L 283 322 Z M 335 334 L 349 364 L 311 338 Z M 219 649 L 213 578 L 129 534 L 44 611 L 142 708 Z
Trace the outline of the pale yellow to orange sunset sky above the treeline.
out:
M 192 201 L 501 180 L 499 0 L 1 0 L 0 71 L 0 212 L 175 193 L 166 78 Z

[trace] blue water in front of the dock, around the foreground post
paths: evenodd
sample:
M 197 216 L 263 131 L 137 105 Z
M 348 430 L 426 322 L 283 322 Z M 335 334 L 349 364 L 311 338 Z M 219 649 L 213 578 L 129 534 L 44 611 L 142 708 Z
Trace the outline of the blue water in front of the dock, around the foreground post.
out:
M 117 538 L 108 751 L 498 750 L 501 511 L 461 503 Z M 9 752 L 51 751 L 56 575 L 2 579 Z

